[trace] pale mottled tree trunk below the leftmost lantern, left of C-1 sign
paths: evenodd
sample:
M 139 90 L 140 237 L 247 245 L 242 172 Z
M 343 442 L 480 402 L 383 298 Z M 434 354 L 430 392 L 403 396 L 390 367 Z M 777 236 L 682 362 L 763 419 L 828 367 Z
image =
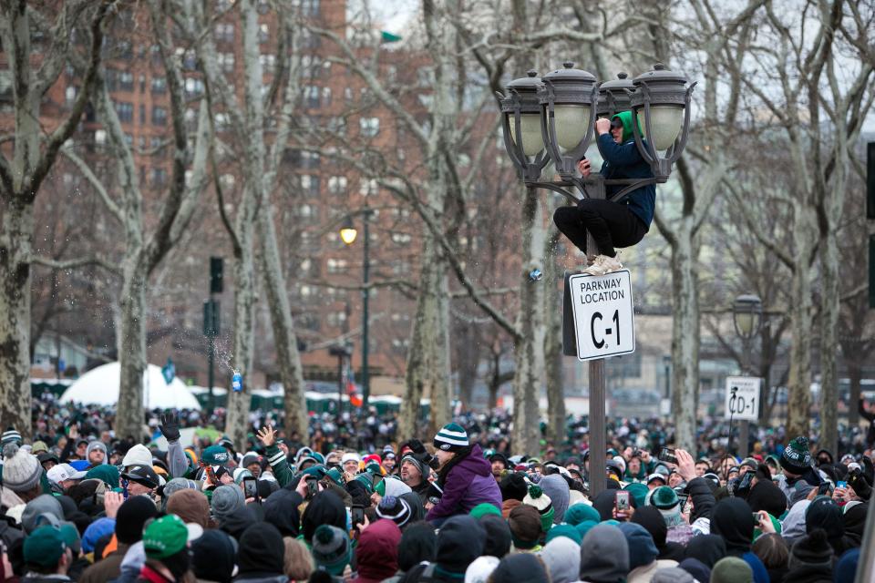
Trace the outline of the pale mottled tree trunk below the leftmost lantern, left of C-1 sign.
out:
M 520 273 L 520 312 L 517 327 L 520 340 L 514 347 L 516 374 L 513 380 L 513 432 L 515 451 L 535 454 L 540 451 L 540 412 L 538 394 L 544 379 L 544 326 L 541 311 L 543 285 L 531 281 L 533 269 L 543 271 L 543 229 L 540 227 L 538 189 L 526 189 L 522 207 L 522 273 Z

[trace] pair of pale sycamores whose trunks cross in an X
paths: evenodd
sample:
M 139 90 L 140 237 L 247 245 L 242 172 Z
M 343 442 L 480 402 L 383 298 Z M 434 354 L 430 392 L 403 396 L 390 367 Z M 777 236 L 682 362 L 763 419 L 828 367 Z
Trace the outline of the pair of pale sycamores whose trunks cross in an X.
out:
M 285 426 L 288 432 L 307 435 L 306 403 L 304 401 L 304 374 L 294 331 L 292 309 L 283 271 L 283 261 L 276 229 L 271 195 L 276 188 L 277 169 L 290 136 L 294 104 L 299 91 L 297 66 L 300 55 L 294 44 L 288 49 L 300 6 L 293 2 L 276 4 L 280 15 L 280 40 L 276 61 L 278 66 L 272 85 L 262 92 L 263 70 L 260 61 L 259 14 L 255 0 L 239 3 L 243 45 L 242 91 L 224 76 L 216 59 L 212 40 L 212 18 L 200 5 L 185 4 L 198 29 L 190 31 L 196 39 L 198 55 L 204 64 L 211 107 L 221 107 L 230 119 L 241 159 L 243 175 L 242 196 L 233 220 L 223 220 L 233 240 L 234 260 L 234 370 L 241 373 L 244 382 L 241 393 L 230 393 L 225 433 L 235 444 L 245 443 L 249 431 L 248 418 L 251 384 L 246 377 L 252 372 L 254 342 L 255 264 L 262 266 L 268 305 L 271 313 L 274 343 L 277 349 L 280 380 L 283 382 Z M 281 85 L 283 75 L 287 79 Z M 238 99 L 242 95 L 242 102 Z M 279 98 L 277 98 L 279 97 Z M 272 106 L 278 104 L 275 108 Z M 215 113 L 215 112 L 214 112 Z M 279 118 L 275 133 L 268 139 L 265 128 L 273 118 Z M 268 147 L 268 144 L 270 148 Z M 224 210 L 221 210 L 224 213 Z M 224 215 L 223 215 L 224 216 Z M 258 227 L 258 240 L 255 228 Z

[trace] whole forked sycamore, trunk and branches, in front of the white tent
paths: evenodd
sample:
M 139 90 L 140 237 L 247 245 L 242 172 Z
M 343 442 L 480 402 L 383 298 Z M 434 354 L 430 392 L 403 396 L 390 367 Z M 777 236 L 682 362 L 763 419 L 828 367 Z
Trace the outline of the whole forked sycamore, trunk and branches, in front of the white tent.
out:
M 168 34 L 166 6 L 154 0 L 149 4 L 150 22 L 160 48 L 161 61 L 170 95 L 170 121 L 173 168 L 170 188 L 159 194 L 160 213 L 153 230 L 146 228 L 144 192 L 132 146 L 129 146 L 116 109 L 103 79 L 98 74 L 95 96 L 98 118 L 107 130 L 108 147 L 117 159 L 114 184 L 98 179 L 88 162 L 80 158 L 74 146 L 63 149 L 90 182 L 110 216 L 118 220 L 125 237 L 121 263 L 122 289 L 118 319 L 118 362 L 120 368 L 116 433 L 133 440 L 143 438 L 143 404 L 150 387 L 143 385 L 147 366 L 147 292 L 150 274 L 180 240 L 194 211 L 199 208 L 201 192 L 206 186 L 207 152 L 211 144 L 209 112 L 201 99 L 195 136 L 190 141 L 185 127 L 185 97 L 178 58 Z M 186 178 L 186 171 L 191 176 Z M 113 191 L 118 190 L 118 197 Z M 157 387 L 156 387 L 157 388 Z

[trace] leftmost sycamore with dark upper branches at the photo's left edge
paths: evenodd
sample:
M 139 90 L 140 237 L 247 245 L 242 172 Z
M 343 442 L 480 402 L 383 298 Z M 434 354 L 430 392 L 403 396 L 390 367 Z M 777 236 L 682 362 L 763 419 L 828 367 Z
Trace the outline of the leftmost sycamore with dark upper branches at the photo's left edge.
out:
M 36 8 L 26 0 L 0 4 L 0 40 L 12 77 L 11 159 L 0 155 L 0 425 L 14 426 L 26 438 L 30 422 L 30 282 L 33 261 L 34 204 L 57 152 L 76 131 L 88 104 L 100 63 L 102 24 L 111 3 L 67 2 L 59 6 L 47 45 L 37 64 L 31 56 Z M 45 15 L 43 15 L 45 17 Z M 64 71 L 75 50 L 71 38 L 88 31 L 85 74 L 69 112 L 47 135 L 40 127 L 43 97 Z M 6 150 L 8 151 L 8 150 Z

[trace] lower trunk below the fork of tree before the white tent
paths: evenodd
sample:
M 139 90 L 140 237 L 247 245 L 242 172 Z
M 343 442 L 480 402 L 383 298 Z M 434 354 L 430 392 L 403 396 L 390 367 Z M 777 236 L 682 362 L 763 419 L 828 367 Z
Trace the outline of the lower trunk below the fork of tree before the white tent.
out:
M 138 253 L 139 254 L 139 253 Z M 149 276 L 136 257 L 126 258 L 118 328 L 118 416 L 116 434 L 143 441 L 143 372 L 146 370 L 146 284 Z M 147 377 L 148 378 L 148 377 Z M 155 387 L 154 390 L 157 390 Z

